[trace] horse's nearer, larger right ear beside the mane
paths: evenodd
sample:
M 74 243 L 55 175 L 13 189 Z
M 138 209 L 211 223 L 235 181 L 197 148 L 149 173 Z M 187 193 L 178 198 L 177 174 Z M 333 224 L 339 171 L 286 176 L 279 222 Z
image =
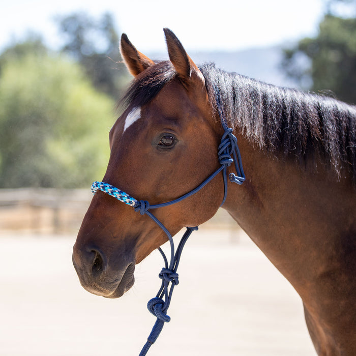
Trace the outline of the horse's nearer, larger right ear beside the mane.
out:
M 205 79 L 199 68 L 182 46 L 179 39 L 169 28 L 163 29 L 166 36 L 169 59 L 172 62 L 182 83 L 189 85 L 191 82 L 202 84 L 205 87 Z

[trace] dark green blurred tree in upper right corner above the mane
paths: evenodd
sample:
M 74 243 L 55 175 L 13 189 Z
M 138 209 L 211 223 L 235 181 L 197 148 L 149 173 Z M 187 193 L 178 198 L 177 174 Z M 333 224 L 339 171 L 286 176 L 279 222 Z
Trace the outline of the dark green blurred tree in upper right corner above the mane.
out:
M 329 0 L 316 38 L 284 50 L 282 68 L 304 89 L 356 104 L 356 0 Z

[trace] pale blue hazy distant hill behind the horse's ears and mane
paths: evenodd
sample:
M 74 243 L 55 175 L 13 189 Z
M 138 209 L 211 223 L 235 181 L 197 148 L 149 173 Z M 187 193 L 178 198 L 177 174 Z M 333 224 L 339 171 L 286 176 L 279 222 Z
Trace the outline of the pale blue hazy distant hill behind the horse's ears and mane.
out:
M 282 47 L 255 48 L 235 52 L 188 52 L 196 64 L 214 62 L 217 67 L 227 72 L 236 72 L 278 86 L 296 87 L 296 84 L 286 78 L 280 69 Z M 147 55 L 156 60 L 168 58 L 167 53 L 152 52 Z

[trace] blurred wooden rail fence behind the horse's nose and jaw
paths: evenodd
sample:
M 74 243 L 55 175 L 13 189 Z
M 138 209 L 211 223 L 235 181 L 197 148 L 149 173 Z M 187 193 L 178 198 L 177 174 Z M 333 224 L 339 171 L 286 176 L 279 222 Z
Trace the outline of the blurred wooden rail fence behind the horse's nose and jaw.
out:
M 92 196 L 90 189 L 0 189 L 0 232 L 76 233 Z M 222 209 L 201 228 L 229 229 L 232 240 L 238 232 Z

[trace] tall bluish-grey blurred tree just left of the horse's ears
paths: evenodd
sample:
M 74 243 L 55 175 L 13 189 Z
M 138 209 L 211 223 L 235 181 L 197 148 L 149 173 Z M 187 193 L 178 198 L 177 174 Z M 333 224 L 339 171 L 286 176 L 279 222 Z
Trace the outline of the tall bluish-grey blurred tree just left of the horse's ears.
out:
M 119 37 L 111 14 L 96 20 L 79 12 L 56 21 L 64 37 L 62 51 L 82 65 L 98 90 L 112 98 L 120 96 L 130 78 L 121 63 Z

